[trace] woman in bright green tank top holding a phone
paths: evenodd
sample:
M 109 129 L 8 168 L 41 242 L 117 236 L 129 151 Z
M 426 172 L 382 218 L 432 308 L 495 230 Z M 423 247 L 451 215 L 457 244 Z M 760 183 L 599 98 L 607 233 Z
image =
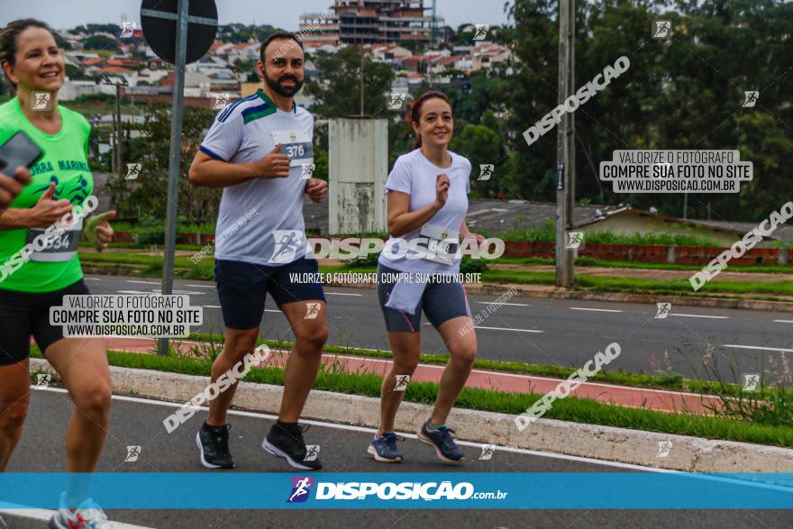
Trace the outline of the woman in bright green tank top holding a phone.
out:
M 31 168 L 31 183 L 0 213 L 0 471 L 11 459 L 27 415 L 33 337 L 75 406 L 66 436 L 66 470 L 75 473 L 74 479 L 50 527 L 110 527 L 90 500 L 87 479 L 77 474 L 96 469 L 110 420 L 105 343 L 64 338 L 63 327 L 51 325 L 49 313 L 50 306 L 62 305 L 63 296 L 89 293 L 77 257 L 81 228 L 85 224 L 87 239 L 101 251 L 113 236 L 108 221 L 115 212 L 81 218 L 84 205 L 87 211 L 93 201 L 96 208 L 87 165 L 90 125 L 58 105 L 65 67 L 50 28 L 33 19 L 9 23 L 0 32 L 0 65 L 16 87 L 14 99 L 0 105 L 0 144 L 24 131 L 44 152 Z M 64 225 L 68 214 L 73 222 Z M 59 231 L 53 234 L 56 224 Z M 52 397 L 42 393 L 39 398 Z

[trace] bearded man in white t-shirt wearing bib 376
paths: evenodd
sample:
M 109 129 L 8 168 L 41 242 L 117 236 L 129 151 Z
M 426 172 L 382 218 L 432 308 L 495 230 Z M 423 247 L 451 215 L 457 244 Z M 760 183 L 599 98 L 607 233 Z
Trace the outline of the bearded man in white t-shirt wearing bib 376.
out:
M 278 421 L 262 447 L 297 469 L 318 470 L 322 465 L 307 456 L 297 424 L 328 333 L 317 262 L 305 259 L 303 196 L 320 202 L 328 185 L 305 178 L 314 161 L 314 117 L 294 101 L 303 86 L 303 45 L 291 33 L 270 35 L 257 69 L 264 87 L 217 114 L 190 168 L 192 184 L 223 188 L 214 278 L 226 330 L 212 381 L 253 351 L 269 293 L 287 316 L 296 343 L 287 360 Z M 234 467 L 226 412 L 235 388 L 210 401 L 196 435 L 207 468 Z

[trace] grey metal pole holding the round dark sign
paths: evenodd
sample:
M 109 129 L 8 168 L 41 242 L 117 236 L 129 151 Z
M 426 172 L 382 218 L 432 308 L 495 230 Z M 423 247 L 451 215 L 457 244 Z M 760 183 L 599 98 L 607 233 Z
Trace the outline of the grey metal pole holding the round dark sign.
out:
M 182 145 L 182 111 L 184 109 L 185 63 L 187 62 L 187 16 L 190 0 L 178 0 L 176 59 L 174 67 L 173 105 L 171 106 L 170 155 L 168 175 L 168 212 L 165 218 L 165 255 L 162 263 L 162 294 L 173 292 L 174 250 L 177 239 L 179 162 Z M 158 352 L 168 354 L 168 338 L 160 338 Z

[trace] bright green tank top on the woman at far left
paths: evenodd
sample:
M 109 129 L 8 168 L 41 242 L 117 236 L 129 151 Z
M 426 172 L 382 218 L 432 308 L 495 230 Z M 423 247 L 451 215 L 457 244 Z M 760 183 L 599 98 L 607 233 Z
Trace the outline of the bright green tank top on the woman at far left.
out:
M 66 198 L 72 205 L 82 206 L 94 192 L 94 178 L 88 169 L 88 136 L 91 125 L 81 114 L 58 106 L 61 127 L 55 134 L 41 132 L 23 114 L 19 99 L 0 105 L 0 145 L 14 133 L 26 132 L 44 151 L 41 159 L 31 168 L 31 183 L 23 188 L 10 208 L 29 208 L 36 205 L 39 197 L 56 185 L 54 200 Z M 0 177 L 5 178 L 5 177 Z M 20 251 L 29 238 L 28 230 L 0 230 L 0 267 L 5 272 L 16 268 L 9 262 Z M 28 241 L 29 242 L 29 241 Z M 5 277 L 5 278 L 4 278 Z M 52 292 L 68 287 L 83 278 L 83 270 L 77 252 L 69 260 L 46 262 L 28 260 L 11 273 L 0 270 L 0 288 L 22 292 Z

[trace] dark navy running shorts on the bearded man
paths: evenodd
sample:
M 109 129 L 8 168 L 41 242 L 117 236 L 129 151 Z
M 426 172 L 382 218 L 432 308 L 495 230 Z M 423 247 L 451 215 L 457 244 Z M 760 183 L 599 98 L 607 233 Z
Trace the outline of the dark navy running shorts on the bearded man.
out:
M 293 278 L 293 275 L 301 277 Z M 306 281 L 306 276 L 314 279 Z M 214 280 L 223 324 L 238 330 L 259 327 L 268 293 L 278 308 L 296 301 L 324 301 L 318 276 L 317 261 L 305 257 L 275 267 L 239 260 L 215 260 Z

